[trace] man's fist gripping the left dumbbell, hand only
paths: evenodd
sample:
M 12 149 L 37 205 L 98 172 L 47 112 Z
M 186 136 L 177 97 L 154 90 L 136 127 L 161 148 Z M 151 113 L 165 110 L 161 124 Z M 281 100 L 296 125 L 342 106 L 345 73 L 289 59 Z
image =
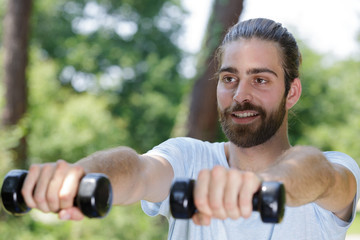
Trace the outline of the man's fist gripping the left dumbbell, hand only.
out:
M 58 213 L 63 220 L 81 220 L 83 214 L 73 205 L 80 179 L 84 175 L 81 166 L 64 160 L 34 164 L 29 169 L 21 193 L 30 208 Z

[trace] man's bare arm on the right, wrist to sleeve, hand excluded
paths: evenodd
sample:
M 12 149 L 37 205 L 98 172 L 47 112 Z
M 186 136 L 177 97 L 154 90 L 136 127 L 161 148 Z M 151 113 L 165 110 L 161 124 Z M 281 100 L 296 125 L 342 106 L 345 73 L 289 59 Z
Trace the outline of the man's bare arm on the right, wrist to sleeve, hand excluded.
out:
M 351 217 L 355 177 L 345 167 L 329 162 L 316 148 L 293 147 L 260 176 L 284 183 L 289 206 L 315 202 L 343 220 Z

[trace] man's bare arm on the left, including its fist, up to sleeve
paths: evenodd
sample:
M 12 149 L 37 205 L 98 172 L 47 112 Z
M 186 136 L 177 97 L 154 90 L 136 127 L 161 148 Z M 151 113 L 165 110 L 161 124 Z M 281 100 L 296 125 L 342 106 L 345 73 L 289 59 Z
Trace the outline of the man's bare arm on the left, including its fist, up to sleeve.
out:
M 73 207 L 73 201 L 80 179 L 90 172 L 104 173 L 109 177 L 113 203 L 122 205 L 141 199 L 165 199 L 173 178 L 173 170 L 166 160 L 119 147 L 96 152 L 75 164 L 59 160 L 32 165 L 22 195 L 31 208 L 59 212 L 62 219 L 82 219 L 81 212 Z

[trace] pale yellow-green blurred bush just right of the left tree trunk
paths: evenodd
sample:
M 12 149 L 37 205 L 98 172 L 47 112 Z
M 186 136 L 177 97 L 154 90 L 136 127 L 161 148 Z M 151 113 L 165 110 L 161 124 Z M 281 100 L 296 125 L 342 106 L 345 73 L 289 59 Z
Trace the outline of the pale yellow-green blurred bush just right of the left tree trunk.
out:
M 36 51 L 33 58 L 36 58 Z M 53 61 L 33 61 L 29 67 L 27 122 L 29 155 L 34 162 L 76 161 L 97 150 L 122 145 L 125 122 L 113 118 L 104 96 L 73 94 L 61 88 Z

